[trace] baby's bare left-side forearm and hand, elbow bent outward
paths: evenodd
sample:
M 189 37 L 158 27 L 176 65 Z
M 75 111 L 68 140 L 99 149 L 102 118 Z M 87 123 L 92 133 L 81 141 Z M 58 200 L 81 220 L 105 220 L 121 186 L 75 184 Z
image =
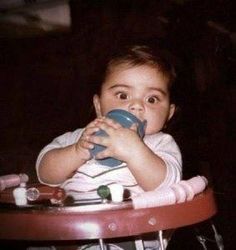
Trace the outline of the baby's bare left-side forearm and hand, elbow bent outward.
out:
M 98 131 L 96 122 L 97 119 L 88 124 L 74 143 L 58 143 L 55 148 L 43 155 L 37 166 L 38 177 L 43 183 L 61 184 L 91 158 L 89 149 L 94 145 L 88 142 L 87 137 Z

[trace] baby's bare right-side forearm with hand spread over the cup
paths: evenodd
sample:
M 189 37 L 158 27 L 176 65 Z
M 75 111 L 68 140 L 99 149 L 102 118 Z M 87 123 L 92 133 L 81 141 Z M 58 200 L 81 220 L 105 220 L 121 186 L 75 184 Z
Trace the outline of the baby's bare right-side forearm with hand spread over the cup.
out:
M 164 157 L 161 157 L 157 152 L 151 150 L 150 147 L 139 138 L 135 127 L 131 129 L 123 128 L 110 119 L 105 119 L 99 123 L 98 126 L 105 130 L 109 136 L 103 138 L 96 136 L 91 137 L 91 142 L 107 147 L 97 155 L 97 158 L 114 157 L 126 162 L 137 183 L 144 190 L 157 188 L 163 183 L 166 177 L 168 177 L 167 174 L 169 175 L 169 173 L 167 172 L 170 169 L 172 171 L 172 166 L 168 166 L 167 168 Z M 175 156 L 173 158 L 175 158 Z M 180 165 L 178 165 L 179 163 L 177 161 L 175 159 L 173 160 L 173 172 L 176 171 L 178 175 L 177 178 L 179 178 L 181 175 L 181 163 L 179 162 Z

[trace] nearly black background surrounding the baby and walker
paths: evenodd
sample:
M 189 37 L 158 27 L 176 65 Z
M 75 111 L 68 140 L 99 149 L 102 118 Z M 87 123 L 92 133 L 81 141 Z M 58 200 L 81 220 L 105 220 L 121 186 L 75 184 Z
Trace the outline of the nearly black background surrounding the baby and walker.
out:
M 93 116 L 91 97 L 106 56 L 120 44 L 158 44 L 175 55 L 179 72 L 181 111 L 170 133 L 183 152 L 184 176 L 207 176 L 219 208 L 214 222 L 225 249 L 233 249 L 233 1 L 80 0 L 70 7 L 68 32 L 0 39 L 0 174 L 24 172 L 37 181 L 40 149 Z M 170 248 L 201 249 L 191 232 L 179 230 Z

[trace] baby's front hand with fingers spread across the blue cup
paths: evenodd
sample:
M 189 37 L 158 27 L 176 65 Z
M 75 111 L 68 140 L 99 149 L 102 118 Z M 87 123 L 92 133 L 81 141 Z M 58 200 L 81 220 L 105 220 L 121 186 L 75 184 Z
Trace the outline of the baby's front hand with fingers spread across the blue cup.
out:
M 124 128 L 116 121 L 103 117 L 97 121 L 96 127 L 104 130 L 108 136 L 91 136 L 90 142 L 106 147 L 96 155 L 97 159 L 113 157 L 121 161 L 130 158 L 131 149 L 140 145 L 142 140 L 137 133 L 137 124 Z

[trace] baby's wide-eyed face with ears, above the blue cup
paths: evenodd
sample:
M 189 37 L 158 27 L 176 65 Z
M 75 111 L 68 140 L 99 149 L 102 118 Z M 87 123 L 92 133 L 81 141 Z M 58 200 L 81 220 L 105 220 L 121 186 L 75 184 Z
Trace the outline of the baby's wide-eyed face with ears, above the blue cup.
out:
M 159 132 L 175 110 L 169 100 L 168 79 L 148 65 L 116 66 L 106 77 L 101 95 L 94 97 L 94 104 L 98 115 L 123 109 L 146 120 L 146 134 Z

